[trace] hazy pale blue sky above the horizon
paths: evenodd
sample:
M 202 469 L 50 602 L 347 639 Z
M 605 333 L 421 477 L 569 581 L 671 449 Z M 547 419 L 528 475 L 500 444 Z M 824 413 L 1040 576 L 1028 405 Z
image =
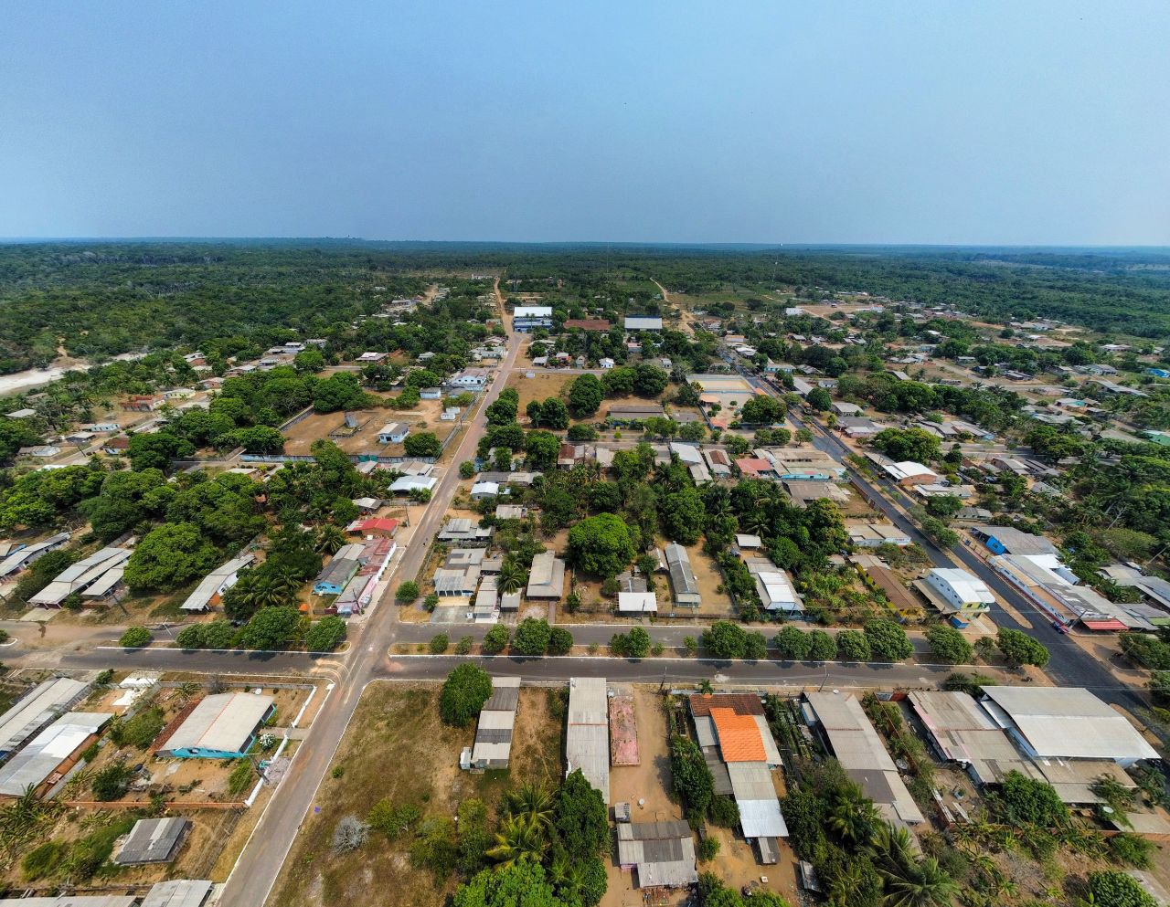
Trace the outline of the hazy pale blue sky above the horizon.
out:
M 0 236 L 1170 244 L 1170 5 L 8 2 Z

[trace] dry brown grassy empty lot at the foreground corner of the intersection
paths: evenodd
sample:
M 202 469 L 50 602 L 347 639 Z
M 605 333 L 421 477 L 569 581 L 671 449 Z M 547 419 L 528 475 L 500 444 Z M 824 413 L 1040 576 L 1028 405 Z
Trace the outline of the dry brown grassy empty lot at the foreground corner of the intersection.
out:
M 411 866 L 407 842 L 388 843 L 377 833 L 360 851 L 335 856 L 329 842 L 338 819 L 364 818 L 383 797 L 415 803 L 435 817 L 452 816 L 461 801 L 479 797 L 490 816 L 510 781 L 551 784 L 559 778 L 562 722 L 549 712 L 546 690 L 521 691 L 512 766 L 482 775 L 459 770 L 460 749 L 475 736 L 474 722 L 462 729 L 441 725 L 438 697 L 438 685 L 370 686 L 337 753 L 344 774 L 322 785 L 269 903 L 373 907 L 387 903 L 393 892 L 395 905 L 438 907 L 454 891 L 454 878 L 436 887 L 431 873 Z

